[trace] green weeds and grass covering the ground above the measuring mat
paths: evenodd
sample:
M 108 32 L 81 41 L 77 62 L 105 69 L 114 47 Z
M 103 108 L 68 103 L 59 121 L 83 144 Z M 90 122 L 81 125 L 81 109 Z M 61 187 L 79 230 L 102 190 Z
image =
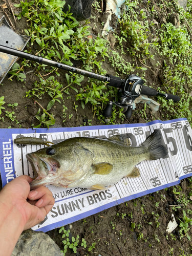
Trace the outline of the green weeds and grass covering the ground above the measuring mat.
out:
M 15 6 L 22 10 L 17 18 L 25 17 L 27 20 L 28 28 L 25 29 L 25 33 L 31 35 L 28 52 L 31 52 L 32 46 L 36 44 L 38 49 L 35 54 L 38 56 L 69 66 L 73 66 L 73 61 L 80 61 L 81 69 L 102 75 L 106 74 L 102 62 L 109 61 L 116 70 L 116 74 L 113 75 L 125 78 L 128 74 L 135 73 L 144 79 L 146 85 L 158 89 L 159 92 L 179 95 L 181 100 L 178 103 L 158 98 L 158 102 L 161 103 L 161 119 L 186 117 L 191 123 L 191 2 L 191 0 L 187 2 L 187 12 L 185 12 L 175 1 L 170 3 L 165 0 L 164 4 L 148 1 L 145 8 L 141 8 L 143 7 L 141 0 L 125 1 L 126 8 L 113 32 L 115 38 L 113 49 L 110 49 L 109 40 L 106 38 L 102 38 L 101 35 L 95 37 L 91 35 L 89 20 L 79 23 L 70 11 L 64 13 L 62 7 L 65 1 L 20 1 L 20 4 Z M 101 12 L 100 7 L 100 1 L 96 1 L 93 5 L 98 13 Z M 174 13 L 179 14 L 179 27 L 169 22 L 170 15 Z M 158 15 L 161 14 L 165 17 L 163 22 L 156 22 Z M 63 97 L 72 96 L 74 94 L 72 91 L 76 93 L 75 99 L 81 102 L 83 109 L 86 109 L 87 104 L 91 104 L 93 116 L 105 122 L 106 118 L 103 117 L 102 111 L 108 100 L 114 99 L 117 89 L 108 88 L 106 83 L 95 79 L 85 80 L 83 76 L 73 72 L 66 73 L 66 80 L 61 81 L 59 69 L 37 65 L 28 60 L 20 65 L 15 63 L 9 79 L 16 77 L 25 83 L 24 69 L 33 69 L 36 75 L 32 88 L 26 92 L 26 97 L 39 101 L 48 95 L 50 99 L 48 106 L 43 106 L 46 112 L 41 113 L 41 116 L 43 115 L 41 120 L 37 118 L 38 127 L 49 127 L 53 124 L 43 120 L 50 120 L 56 102 L 62 104 Z M 149 78 L 153 76 L 153 80 L 157 81 L 159 69 L 161 69 L 161 84 L 158 84 L 158 88 Z M 148 106 L 145 104 L 143 110 L 136 111 L 135 114 L 150 121 L 151 117 L 147 116 L 146 108 Z M 119 110 L 113 106 L 108 124 L 124 122 L 122 111 L 123 109 Z M 71 114 L 65 109 L 65 115 L 72 117 Z M 63 121 L 65 120 L 63 116 Z

